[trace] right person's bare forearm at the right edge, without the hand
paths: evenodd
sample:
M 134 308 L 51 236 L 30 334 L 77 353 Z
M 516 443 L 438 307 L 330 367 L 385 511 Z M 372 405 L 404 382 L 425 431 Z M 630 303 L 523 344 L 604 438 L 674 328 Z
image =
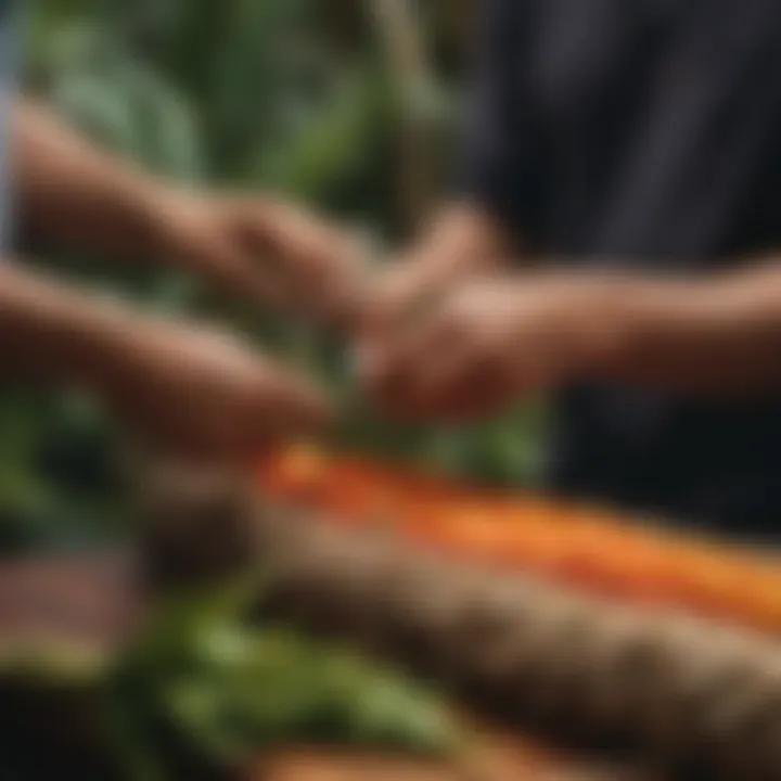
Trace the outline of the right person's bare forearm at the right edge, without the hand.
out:
M 598 379 L 705 395 L 781 389 L 781 264 L 704 280 L 612 280 L 591 316 Z

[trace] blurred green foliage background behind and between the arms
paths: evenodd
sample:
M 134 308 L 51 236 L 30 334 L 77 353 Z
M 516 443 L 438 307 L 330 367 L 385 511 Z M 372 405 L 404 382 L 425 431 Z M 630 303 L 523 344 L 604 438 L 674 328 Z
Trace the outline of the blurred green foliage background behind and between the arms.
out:
M 274 190 L 384 257 L 458 158 L 476 0 L 40 0 L 26 81 L 95 142 L 181 182 Z M 351 412 L 355 447 L 481 481 L 534 484 L 543 406 L 471 431 L 405 430 L 363 410 L 345 345 L 234 308 L 170 273 L 51 257 L 85 283 L 219 316 L 303 362 Z M 126 522 L 121 436 L 90 400 L 0 389 L 0 545 L 103 541 Z

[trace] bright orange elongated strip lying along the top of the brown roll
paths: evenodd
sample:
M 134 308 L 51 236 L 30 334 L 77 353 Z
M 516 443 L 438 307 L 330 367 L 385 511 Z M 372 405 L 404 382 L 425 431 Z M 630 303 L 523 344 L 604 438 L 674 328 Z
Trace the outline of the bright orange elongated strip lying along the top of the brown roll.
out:
M 505 496 L 311 448 L 263 464 L 271 497 L 340 523 L 382 524 L 451 558 L 530 571 L 633 603 L 781 629 L 781 559 L 629 522 L 602 509 Z

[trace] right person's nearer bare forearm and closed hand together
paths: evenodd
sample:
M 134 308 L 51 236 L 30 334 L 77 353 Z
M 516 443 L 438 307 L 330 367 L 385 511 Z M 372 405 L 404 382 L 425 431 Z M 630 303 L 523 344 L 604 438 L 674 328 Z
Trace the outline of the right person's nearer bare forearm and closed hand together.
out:
M 390 412 L 460 421 L 582 381 L 701 397 L 781 390 L 781 263 L 692 279 L 495 274 L 377 340 L 363 380 Z

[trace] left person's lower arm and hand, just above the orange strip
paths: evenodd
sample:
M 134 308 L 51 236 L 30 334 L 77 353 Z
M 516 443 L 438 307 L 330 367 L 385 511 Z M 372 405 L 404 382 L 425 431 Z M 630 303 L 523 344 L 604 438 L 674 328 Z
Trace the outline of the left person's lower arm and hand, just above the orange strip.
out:
M 89 390 L 140 440 L 193 458 L 252 462 L 329 417 L 305 379 L 228 335 L 141 317 L 11 264 L 0 266 L 0 381 Z

